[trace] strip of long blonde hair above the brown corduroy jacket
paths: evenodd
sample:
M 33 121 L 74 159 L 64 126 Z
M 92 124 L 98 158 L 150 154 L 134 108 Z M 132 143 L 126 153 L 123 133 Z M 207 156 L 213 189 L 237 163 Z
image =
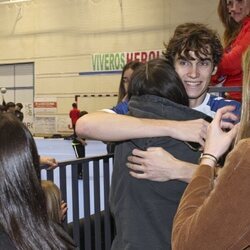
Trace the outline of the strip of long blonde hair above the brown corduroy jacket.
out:
M 250 46 L 242 58 L 243 84 L 242 84 L 242 107 L 241 122 L 236 143 L 250 137 Z

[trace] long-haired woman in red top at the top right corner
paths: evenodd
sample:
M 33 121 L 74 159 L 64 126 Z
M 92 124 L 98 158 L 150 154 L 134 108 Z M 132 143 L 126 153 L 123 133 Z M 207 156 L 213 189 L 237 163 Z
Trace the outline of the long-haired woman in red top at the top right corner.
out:
M 220 0 L 218 14 L 224 25 L 224 54 L 215 84 L 242 86 L 242 54 L 250 45 L 250 0 Z M 241 92 L 225 93 L 228 99 L 241 101 Z

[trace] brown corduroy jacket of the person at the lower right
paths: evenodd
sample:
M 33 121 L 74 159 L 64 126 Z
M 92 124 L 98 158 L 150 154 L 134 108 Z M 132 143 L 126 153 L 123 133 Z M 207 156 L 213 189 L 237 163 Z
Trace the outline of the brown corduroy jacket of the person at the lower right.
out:
M 227 157 L 214 186 L 213 169 L 197 169 L 175 215 L 173 250 L 243 249 L 250 244 L 250 139 Z

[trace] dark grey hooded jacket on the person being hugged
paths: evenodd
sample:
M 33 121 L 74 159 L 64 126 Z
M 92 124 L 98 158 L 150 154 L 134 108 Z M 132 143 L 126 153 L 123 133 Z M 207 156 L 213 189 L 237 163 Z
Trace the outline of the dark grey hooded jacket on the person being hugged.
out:
M 205 115 L 165 98 L 132 97 L 129 114 L 135 117 L 192 120 Z M 197 163 L 199 152 L 171 137 L 135 139 L 121 142 L 115 149 L 110 204 L 117 235 L 112 249 L 171 249 L 171 230 L 180 198 L 187 186 L 177 180 L 154 182 L 129 175 L 127 157 L 134 148 L 163 147 L 176 158 Z

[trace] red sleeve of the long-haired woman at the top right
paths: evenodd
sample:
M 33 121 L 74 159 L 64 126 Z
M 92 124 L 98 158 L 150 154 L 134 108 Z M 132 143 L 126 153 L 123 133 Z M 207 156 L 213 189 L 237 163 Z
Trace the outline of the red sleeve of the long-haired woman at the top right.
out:
M 218 66 L 217 76 L 235 75 L 242 71 L 241 60 L 250 45 L 250 20 L 243 26 L 230 51 L 225 51 Z

